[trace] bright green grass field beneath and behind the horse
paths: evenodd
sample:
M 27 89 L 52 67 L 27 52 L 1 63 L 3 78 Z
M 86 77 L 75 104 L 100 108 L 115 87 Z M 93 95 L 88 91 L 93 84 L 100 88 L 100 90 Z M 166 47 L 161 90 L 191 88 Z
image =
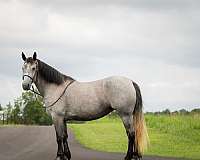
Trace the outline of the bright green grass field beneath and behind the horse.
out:
M 200 159 L 200 116 L 145 116 L 150 147 L 145 155 Z M 85 124 L 71 124 L 76 139 L 87 148 L 126 152 L 127 137 L 119 118 L 104 117 Z

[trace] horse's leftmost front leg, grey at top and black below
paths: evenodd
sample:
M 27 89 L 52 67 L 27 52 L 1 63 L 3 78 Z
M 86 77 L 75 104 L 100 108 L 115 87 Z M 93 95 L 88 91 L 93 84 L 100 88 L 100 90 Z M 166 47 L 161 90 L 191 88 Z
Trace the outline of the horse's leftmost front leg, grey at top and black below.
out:
M 53 122 L 54 122 L 55 130 L 56 130 L 56 139 L 57 139 L 57 144 L 58 144 L 56 160 L 66 160 L 64 152 L 63 152 L 64 118 L 54 117 Z

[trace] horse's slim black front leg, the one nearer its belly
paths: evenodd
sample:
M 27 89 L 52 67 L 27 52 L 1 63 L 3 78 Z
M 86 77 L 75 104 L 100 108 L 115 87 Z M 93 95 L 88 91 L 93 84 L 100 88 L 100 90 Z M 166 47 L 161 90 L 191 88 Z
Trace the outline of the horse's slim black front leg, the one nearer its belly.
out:
M 67 157 L 67 159 L 70 160 L 71 159 L 71 152 L 69 150 L 67 139 L 68 139 L 67 124 L 66 124 L 66 121 L 64 121 L 64 139 L 63 139 L 64 154 Z

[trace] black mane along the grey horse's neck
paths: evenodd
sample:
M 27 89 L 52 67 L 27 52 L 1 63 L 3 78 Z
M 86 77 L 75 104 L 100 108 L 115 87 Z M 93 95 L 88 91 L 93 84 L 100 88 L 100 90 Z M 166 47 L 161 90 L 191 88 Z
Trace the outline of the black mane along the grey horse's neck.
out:
M 49 66 L 48 64 L 37 60 L 38 61 L 38 72 L 39 75 L 50 83 L 55 83 L 57 85 L 60 85 L 64 83 L 67 80 L 74 80 L 72 77 L 66 76 L 59 71 L 57 71 L 55 68 Z

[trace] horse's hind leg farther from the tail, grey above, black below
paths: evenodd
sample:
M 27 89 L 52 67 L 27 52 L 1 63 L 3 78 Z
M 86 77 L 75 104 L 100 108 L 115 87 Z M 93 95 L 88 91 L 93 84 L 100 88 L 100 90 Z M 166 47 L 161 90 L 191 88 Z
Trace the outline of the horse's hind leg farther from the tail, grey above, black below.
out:
M 135 141 L 135 132 L 133 128 L 133 115 L 132 114 L 120 114 L 123 121 L 124 127 L 126 129 L 126 134 L 128 136 L 128 150 L 125 160 L 131 160 L 133 158 L 133 146 Z

